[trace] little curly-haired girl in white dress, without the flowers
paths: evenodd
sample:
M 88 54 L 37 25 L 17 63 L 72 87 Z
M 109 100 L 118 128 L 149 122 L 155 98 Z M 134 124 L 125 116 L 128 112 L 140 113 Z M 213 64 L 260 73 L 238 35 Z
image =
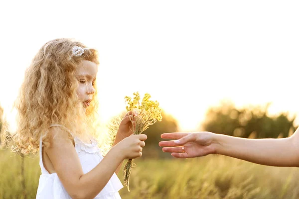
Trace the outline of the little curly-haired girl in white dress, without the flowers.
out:
M 96 50 L 55 39 L 42 46 L 26 70 L 14 150 L 39 149 L 37 199 L 120 199 L 123 186 L 115 173 L 123 160 L 142 155 L 147 136 L 132 135 L 132 112 L 123 118 L 105 157 L 97 146 L 98 64 Z

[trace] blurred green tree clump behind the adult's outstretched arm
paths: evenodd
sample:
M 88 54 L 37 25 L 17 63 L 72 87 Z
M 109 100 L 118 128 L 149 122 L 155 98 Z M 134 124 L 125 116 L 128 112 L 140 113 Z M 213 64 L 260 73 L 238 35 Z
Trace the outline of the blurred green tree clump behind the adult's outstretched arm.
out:
M 288 137 L 294 132 L 295 117 L 289 113 L 268 116 L 270 103 L 264 107 L 237 109 L 231 101 L 222 101 L 219 107 L 208 109 L 203 129 L 236 137 L 277 138 Z

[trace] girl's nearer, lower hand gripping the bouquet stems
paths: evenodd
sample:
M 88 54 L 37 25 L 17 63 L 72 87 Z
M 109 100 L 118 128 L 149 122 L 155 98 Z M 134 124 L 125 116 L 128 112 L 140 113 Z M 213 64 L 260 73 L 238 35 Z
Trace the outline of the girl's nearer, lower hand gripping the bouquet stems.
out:
M 142 156 L 142 148 L 146 145 L 146 134 L 131 135 L 120 141 L 115 147 L 123 153 L 124 159 L 135 159 Z

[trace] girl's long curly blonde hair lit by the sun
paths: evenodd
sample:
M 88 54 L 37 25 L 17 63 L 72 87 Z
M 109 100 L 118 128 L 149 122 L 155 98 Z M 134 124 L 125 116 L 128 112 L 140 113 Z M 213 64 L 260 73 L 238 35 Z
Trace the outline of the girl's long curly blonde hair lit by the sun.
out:
M 81 138 L 95 136 L 93 121 L 97 116 L 97 89 L 90 106 L 78 108 L 77 67 L 83 60 L 99 64 L 98 52 L 85 49 L 81 56 L 72 56 L 72 48 L 87 48 L 72 39 L 54 39 L 44 44 L 25 72 L 15 106 L 18 110 L 17 131 L 13 151 L 22 154 L 38 150 L 40 136 L 49 144 L 50 124 L 58 123 Z M 96 87 L 96 84 L 95 84 Z

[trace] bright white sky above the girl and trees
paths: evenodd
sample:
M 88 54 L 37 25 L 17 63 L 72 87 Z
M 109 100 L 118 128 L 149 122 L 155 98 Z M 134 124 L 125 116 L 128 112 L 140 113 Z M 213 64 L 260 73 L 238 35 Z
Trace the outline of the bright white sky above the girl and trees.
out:
M 223 99 L 299 114 L 298 10 L 296 0 L 1 1 L 0 105 L 13 124 L 33 56 L 68 37 L 99 51 L 103 121 L 136 91 L 159 101 L 181 131 L 199 130 Z

